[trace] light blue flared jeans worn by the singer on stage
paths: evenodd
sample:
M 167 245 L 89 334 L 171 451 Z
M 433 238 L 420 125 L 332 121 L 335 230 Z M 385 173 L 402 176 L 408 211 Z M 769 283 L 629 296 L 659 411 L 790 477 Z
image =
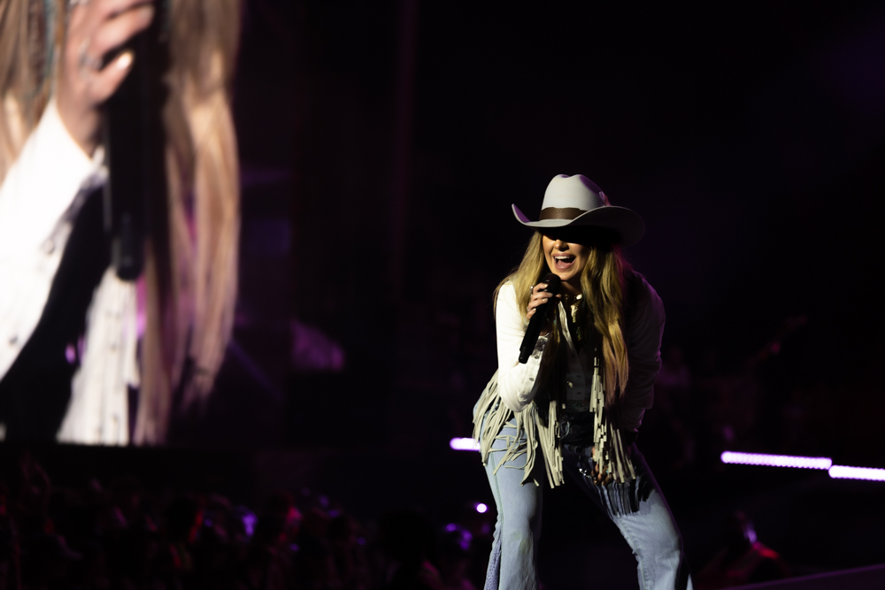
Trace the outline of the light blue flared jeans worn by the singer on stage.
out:
M 543 456 L 535 460 L 536 486 L 531 481 L 520 486 L 526 465 L 526 455 L 495 467 L 504 457 L 508 441 L 516 429 L 505 425 L 492 445 L 486 472 L 492 494 L 495 496 L 497 521 L 485 590 L 537 590 L 537 548 L 541 536 L 541 506 L 544 477 Z M 519 441 L 525 444 L 525 440 Z M 639 450 L 633 447 L 636 485 L 631 493 L 638 511 L 619 510 L 609 497 L 611 489 L 594 486 L 581 471 L 589 472 L 592 460 L 589 450 L 563 448 L 563 463 L 572 479 L 589 495 L 605 514 L 618 526 L 627 544 L 633 549 L 638 563 L 639 587 L 643 590 L 691 590 L 688 566 L 682 555 L 682 538 L 673 515 L 661 494 L 658 482 Z

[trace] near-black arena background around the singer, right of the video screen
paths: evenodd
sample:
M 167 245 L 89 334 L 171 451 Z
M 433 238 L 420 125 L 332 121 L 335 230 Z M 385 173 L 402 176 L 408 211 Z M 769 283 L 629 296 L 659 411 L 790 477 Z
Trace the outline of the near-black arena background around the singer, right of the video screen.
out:
M 883 56 L 873 2 L 249 0 L 235 342 L 181 450 L 133 461 L 467 522 L 491 494 L 448 443 L 496 367 L 492 291 L 529 237 L 510 205 L 582 173 L 648 227 L 626 253 L 666 366 L 639 444 L 693 569 L 735 509 L 793 573 L 885 562 L 881 483 L 719 461 L 885 467 Z M 549 588 L 633 582 L 575 490 L 545 499 Z

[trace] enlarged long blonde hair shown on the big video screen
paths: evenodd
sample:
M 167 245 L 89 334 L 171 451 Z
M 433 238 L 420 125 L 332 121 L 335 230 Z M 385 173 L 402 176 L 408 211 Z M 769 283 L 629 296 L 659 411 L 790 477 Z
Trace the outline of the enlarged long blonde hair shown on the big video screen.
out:
M 0 0 L 0 181 L 48 102 L 67 4 Z M 165 441 L 175 392 L 181 391 L 182 409 L 205 401 L 230 340 L 236 301 L 240 191 L 230 100 L 240 0 L 170 0 L 169 11 L 168 199 L 150 203 L 158 222 L 145 241 L 137 444 Z

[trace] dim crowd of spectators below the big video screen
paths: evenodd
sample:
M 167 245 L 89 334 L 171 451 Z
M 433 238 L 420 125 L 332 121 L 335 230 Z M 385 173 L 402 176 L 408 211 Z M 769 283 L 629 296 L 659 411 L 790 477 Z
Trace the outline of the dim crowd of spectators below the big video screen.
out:
M 27 452 L 7 471 L 0 590 L 474 587 L 473 534 L 418 511 L 361 522 L 306 489 L 253 511 L 220 494 L 149 492 L 134 477 L 62 487 Z

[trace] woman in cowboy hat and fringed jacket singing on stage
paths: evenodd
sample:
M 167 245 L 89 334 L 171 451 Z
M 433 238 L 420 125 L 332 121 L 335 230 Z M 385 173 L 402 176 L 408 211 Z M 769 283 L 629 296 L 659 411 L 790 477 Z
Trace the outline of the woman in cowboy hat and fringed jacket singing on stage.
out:
M 540 220 L 513 212 L 536 233 L 497 287 L 498 370 L 474 409 L 497 506 L 485 587 L 538 587 L 544 481 L 559 486 L 568 471 L 633 548 L 641 588 L 690 588 L 679 530 L 634 444 L 664 330 L 658 294 L 620 254 L 642 237 L 643 220 L 580 174 L 550 181 Z M 549 272 L 561 280 L 559 295 L 545 291 Z M 539 312 L 541 336 L 519 363 Z

